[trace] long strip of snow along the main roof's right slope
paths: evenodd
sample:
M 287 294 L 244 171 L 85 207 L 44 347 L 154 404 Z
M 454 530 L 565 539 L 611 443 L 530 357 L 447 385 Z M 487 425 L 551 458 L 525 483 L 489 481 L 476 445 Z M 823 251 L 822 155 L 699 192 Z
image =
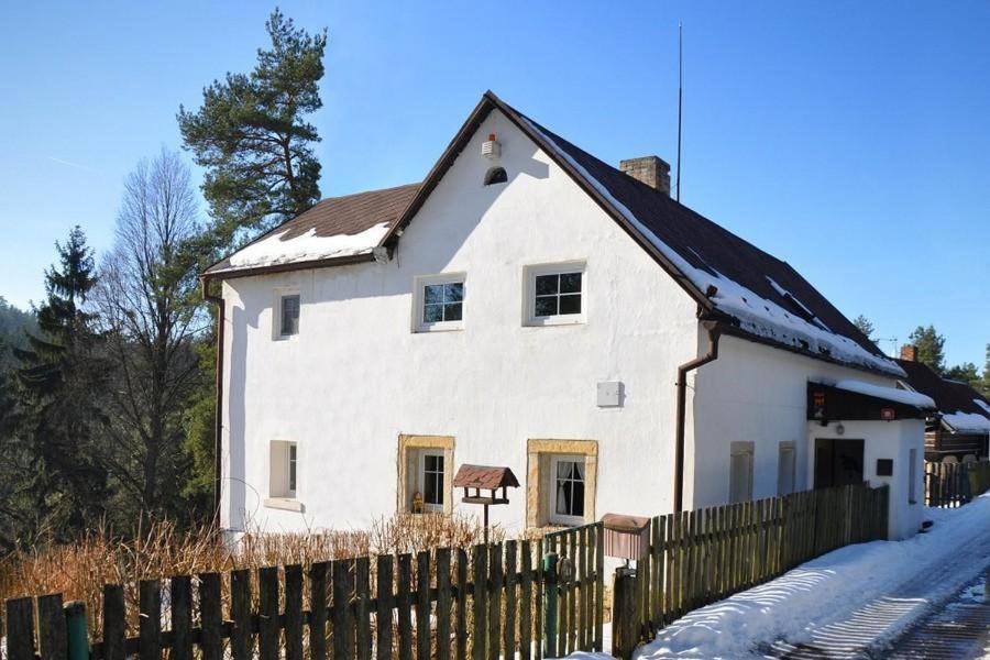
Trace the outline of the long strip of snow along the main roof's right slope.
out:
M 659 250 L 660 253 L 678 268 L 678 271 L 683 273 L 698 290 L 707 292 L 710 286 L 714 286 L 717 290 L 715 295 L 711 297 L 711 300 L 722 311 L 736 317 L 736 319 L 739 320 L 743 330 L 757 337 L 772 339 L 780 343 L 828 356 L 833 360 L 838 360 L 848 364 L 879 370 L 898 376 L 905 375 L 892 360 L 870 353 L 848 337 L 832 332 L 825 328 L 824 324 L 818 326 L 800 318 L 785 310 L 777 302 L 768 300 L 739 283 L 725 277 L 714 268 L 712 268 L 712 272 L 710 273 L 688 263 L 680 253 L 661 241 L 659 237 L 641 222 L 626 205 L 616 199 L 606 186 L 592 176 L 592 174 L 571 156 L 566 150 L 561 148 L 552 138 L 547 135 L 547 133 L 540 129 L 540 127 L 524 114 L 520 114 L 520 118 L 536 134 L 540 135 L 540 138 L 554 150 L 558 156 L 565 160 L 600 195 L 602 195 L 602 197 L 608 200 L 608 202 L 622 213 L 644 238 L 650 241 L 650 243 L 657 248 L 657 250 Z M 781 292 L 781 295 L 788 293 L 772 279 L 770 283 Z M 790 296 L 790 294 L 788 295 Z M 807 308 L 796 298 L 791 296 L 791 299 L 807 311 Z M 810 317 L 814 318 L 814 315 L 812 315 L 811 311 L 807 311 L 807 314 Z

